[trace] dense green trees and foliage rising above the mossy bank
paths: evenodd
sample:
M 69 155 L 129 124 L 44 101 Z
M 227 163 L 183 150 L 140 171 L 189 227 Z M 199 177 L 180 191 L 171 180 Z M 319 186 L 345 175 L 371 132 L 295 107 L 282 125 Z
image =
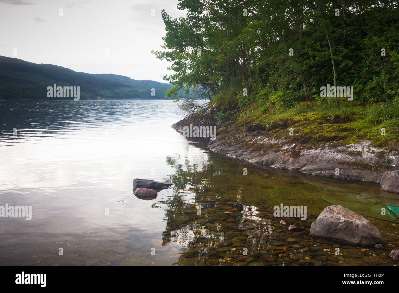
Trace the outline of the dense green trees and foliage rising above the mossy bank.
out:
M 178 8 L 187 17 L 162 12 L 164 50 L 154 51 L 172 62 L 164 79 L 225 111 L 399 102 L 397 1 L 180 0 Z M 353 86 L 354 100 L 320 97 L 327 84 Z

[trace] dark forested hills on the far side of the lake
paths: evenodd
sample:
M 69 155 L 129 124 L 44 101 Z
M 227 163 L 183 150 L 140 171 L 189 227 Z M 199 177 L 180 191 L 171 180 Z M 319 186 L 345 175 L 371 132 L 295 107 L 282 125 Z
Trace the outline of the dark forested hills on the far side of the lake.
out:
M 172 85 L 156 81 L 137 81 L 123 75 L 89 74 L 51 64 L 36 64 L 0 56 L 0 99 L 4 100 L 71 100 L 48 98 L 47 87 L 80 87 L 81 100 L 164 99 Z M 151 89 L 155 89 L 155 96 Z M 173 99 L 173 98 L 170 98 Z

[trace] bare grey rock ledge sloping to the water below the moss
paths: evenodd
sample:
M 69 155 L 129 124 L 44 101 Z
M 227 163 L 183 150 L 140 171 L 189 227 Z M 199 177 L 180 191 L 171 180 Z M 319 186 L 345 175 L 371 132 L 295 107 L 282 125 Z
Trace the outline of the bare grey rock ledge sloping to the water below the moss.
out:
M 180 133 L 184 127 L 217 125 L 210 107 L 172 125 Z M 269 165 L 277 169 L 298 171 L 310 175 L 346 180 L 379 183 L 389 192 L 399 193 L 399 153 L 382 147 L 373 147 L 365 140 L 347 146 L 319 144 L 290 144 L 282 139 L 268 137 L 262 125 L 251 124 L 231 133 L 229 124 L 220 125 L 215 140 L 209 140 L 209 149 L 250 163 Z M 317 135 L 317 134 L 315 134 Z

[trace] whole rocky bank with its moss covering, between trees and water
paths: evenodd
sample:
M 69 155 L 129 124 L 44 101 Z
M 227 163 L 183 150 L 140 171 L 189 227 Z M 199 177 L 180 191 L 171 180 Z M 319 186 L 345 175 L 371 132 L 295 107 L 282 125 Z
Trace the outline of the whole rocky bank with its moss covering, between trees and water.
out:
M 300 111 L 298 111 L 300 112 Z M 381 135 L 381 125 L 356 127 L 361 116 L 321 112 L 278 116 L 226 112 L 216 104 L 172 125 L 217 126 L 209 148 L 215 153 L 306 174 L 380 183 L 399 168 L 396 126 Z M 395 134 L 396 133 L 396 134 Z M 386 176 L 385 176 L 386 177 Z M 389 190 L 399 193 L 399 189 Z

